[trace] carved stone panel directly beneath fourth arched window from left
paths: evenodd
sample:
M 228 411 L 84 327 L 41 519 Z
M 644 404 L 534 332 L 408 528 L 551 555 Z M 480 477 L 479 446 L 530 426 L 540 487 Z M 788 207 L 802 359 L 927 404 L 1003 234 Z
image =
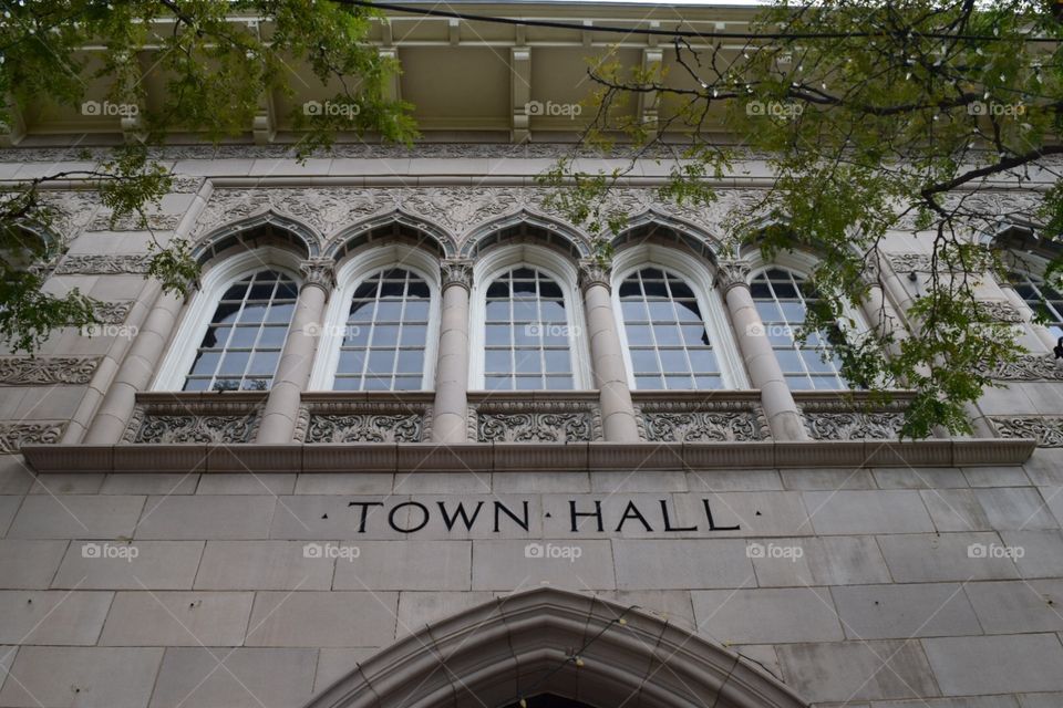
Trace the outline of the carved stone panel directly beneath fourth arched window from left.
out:
M 760 405 L 747 400 L 647 400 L 637 406 L 649 442 L 747 442 L 771 439 Z

